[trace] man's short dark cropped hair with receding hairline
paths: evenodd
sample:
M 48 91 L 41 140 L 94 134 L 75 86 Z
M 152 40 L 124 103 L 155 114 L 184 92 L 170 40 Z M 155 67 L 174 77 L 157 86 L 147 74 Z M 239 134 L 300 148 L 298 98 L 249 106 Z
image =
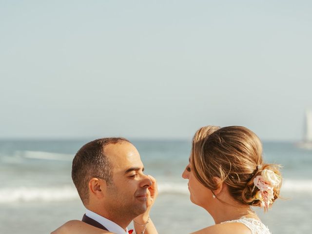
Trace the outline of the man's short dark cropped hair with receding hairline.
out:
M 84 205 L 89 202 L 88 183 L 91 178 L 104 179 L 112 184 L 112 165 L 105 155 L 105 146 L 129 140 L 122 137 L 107 137 L 93 140 L 78 150 L 73 159 L 72 179 Z

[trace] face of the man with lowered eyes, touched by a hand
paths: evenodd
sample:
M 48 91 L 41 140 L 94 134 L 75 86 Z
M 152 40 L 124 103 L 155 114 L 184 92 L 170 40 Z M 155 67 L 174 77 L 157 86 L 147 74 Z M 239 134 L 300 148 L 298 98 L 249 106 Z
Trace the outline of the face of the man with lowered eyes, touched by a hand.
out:
M 144 167 L 136 147 L 123 141 L 105 147 L 112 164 L 112 182 L 107 186 L 106 209 L 115 214 L 140 215 L 146 211 L 147 189 L 152 181 L 143 174 Z

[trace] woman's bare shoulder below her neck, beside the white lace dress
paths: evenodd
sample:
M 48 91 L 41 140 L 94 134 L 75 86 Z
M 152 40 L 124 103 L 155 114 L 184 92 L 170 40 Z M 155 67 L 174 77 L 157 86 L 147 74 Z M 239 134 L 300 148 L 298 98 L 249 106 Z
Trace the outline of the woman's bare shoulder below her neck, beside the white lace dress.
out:
M 249 228 L 242 223 L 222 223 L 201 229 L 192 234 L 251 234 Z

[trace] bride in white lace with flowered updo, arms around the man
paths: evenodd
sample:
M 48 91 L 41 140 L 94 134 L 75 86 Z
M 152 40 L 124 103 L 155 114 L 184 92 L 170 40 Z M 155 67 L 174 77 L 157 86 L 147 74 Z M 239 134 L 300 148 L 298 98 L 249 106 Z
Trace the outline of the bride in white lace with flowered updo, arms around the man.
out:
M 263 162 L 261 142 L 249 129 L 240 126 L 200 128 L 193 138 L 189 164 L 182 177 L 189 180 L 191 201 L 212 215 L 215 225 L 193 234 L 270 234 L 251 207 L 261 206 L 268 211 L 279 197 L 278 168 L 278 165 Z M 137 234 L 157 233 L 148 212 L 134 221 Z M 56 233 L 108 232 L 74 220 Z

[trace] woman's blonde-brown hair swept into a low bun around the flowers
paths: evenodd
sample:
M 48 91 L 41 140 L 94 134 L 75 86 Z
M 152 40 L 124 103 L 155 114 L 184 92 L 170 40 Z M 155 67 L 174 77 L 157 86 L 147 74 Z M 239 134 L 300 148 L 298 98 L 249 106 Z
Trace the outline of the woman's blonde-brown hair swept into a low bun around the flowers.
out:
M 264 164 L 260 139 L 241 126 L 200 128 L 193 137 L 191 166 L 198 181 L 211 191 L 225 183 L 236 201 L 252 206 L 261 204 L 255 197 L 254 178 L 264 169 L 280 176 L 279 165 Z M 219 183 L 215 176 L 221 179 Z M 280 187 L 274 188 L 273 201 L 279 197 Z

